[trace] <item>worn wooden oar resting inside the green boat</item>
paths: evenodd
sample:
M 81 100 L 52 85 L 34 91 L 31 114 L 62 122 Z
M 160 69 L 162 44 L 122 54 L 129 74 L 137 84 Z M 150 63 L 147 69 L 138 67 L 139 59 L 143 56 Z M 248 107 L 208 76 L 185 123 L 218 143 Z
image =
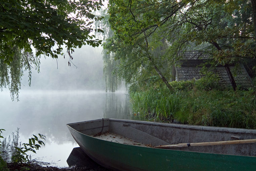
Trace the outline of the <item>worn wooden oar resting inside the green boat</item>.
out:
M 228 144 L 246 144 L 256 142 L 256 139 L 243 139 L 243 140 L 232 140 L 232 141 L 216 141 L 216 142 L 196 142 L 196 143 L 182 143 L 173 145 L 156 146 L 158 149 L 171 149 L 179 147 L 192 147 L 192 146 L 215 146 L 215 145 L 228 145 Z

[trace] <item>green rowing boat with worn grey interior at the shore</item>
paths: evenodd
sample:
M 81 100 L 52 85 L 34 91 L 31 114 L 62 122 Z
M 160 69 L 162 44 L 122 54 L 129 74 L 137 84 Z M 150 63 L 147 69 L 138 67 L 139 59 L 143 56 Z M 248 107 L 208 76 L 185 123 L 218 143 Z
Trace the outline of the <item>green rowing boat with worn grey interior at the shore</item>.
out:
M 109 118 L 67 126 L 91 159 L 113 170 L 256 170 L 256 143 L 248 142 L 256 139 L 256 130 L 252 129 Z M 193 143 L 204 145 L 191 146 Z M 187 146 L 170 146 L 179 144 Z

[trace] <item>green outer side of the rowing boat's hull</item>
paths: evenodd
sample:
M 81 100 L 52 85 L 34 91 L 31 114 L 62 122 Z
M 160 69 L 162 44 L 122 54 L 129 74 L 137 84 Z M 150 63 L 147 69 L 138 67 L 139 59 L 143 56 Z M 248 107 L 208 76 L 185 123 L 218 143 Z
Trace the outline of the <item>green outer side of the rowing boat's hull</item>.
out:
M 85 135 L 68 126 L 83 151 L 100 165 L 131 171 L 253 171 L 256 157 L 140 147 Z

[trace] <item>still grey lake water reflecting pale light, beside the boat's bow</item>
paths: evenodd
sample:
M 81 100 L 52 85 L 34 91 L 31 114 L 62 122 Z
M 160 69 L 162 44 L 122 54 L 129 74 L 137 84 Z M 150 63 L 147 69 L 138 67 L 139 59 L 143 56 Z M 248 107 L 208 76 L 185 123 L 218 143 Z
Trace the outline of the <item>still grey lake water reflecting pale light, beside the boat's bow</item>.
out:
M 19 128 L 19 140 L 28 143 L 32 134 L 46 136 L 45 146 L 32 158 L 66 167 L 73 148 L 78 147 L 66 124 L 100 118 L 130 119 L 126 92 L 104 91 L 20 91 L 11 101 L 9 92 L 0 92 L 0 129 L 7 137 Z M 8 138 L 7 138 L 8 139 Z

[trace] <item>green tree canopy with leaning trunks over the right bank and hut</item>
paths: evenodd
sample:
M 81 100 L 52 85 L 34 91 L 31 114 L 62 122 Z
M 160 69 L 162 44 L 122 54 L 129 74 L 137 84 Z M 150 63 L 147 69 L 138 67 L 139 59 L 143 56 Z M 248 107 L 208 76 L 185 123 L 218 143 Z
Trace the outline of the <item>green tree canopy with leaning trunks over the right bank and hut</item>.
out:
M 106 48 L 119 54 L 127 68 L 120 73 L 128 81 L 154 71 L 171 90 L 161 64 L 182 59 L 187 50 L 198 50 L 211 55 L 213 65 L 225 66 L 235 90 L 228 64 L 256 56 L 250 1 L 110 0 L 108 10 L 115 36 Z M 162 39 L 169 48 L 155 58 L 152 42 Z

